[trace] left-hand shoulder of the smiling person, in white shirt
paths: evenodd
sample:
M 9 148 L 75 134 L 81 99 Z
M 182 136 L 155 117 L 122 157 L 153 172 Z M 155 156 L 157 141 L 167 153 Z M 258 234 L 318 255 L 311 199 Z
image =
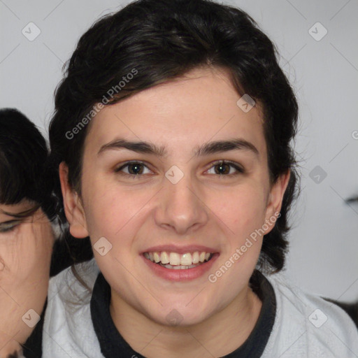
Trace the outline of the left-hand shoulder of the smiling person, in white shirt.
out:
M 90 313 L 99 268 L 92 259 L 50 279 L 43 331 L 43 357 L 102 357 Z M 88 288 L 78 280 L 78 276 Z M 84 339 L 84 337 L 86 339 Z

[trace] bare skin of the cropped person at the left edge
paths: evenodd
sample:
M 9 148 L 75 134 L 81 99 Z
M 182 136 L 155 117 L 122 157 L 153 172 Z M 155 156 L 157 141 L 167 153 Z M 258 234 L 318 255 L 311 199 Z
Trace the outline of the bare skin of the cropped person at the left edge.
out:
M 17 218 L 8 214 L 22 213 L 33 207 L 23 200 L 15 205 L 0 204 L 0 357 L 17 351 L 41 315 L 48 291 L 50 259 L 54 236 L 52 227 L 41 209 L 30 217 Z M 7 214 L 3 213 L 6 212 Z M 10 221 L 15 220 L 13 224 Z M 15 225 L 15 226 L 13 226 Z M 10 231 L 4 231 L 11 228 Z

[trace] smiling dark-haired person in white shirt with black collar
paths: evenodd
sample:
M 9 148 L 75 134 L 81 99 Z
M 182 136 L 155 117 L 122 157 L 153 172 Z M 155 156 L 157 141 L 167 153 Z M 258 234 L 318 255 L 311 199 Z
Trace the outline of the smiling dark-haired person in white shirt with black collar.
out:
M 241 10 L 141 0 L 96 22 L 50 124 L 57 196 L 94 259 L 50 281 L 44 357 L 358 355 L 350 317 L 278 273 L 297 112 Z

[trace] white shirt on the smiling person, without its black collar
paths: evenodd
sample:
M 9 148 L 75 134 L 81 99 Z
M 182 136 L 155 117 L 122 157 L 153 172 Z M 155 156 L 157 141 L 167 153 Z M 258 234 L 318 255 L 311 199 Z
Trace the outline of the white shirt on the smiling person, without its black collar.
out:
M 99 273 L 94 259 L 76 267 L 92 289 Z M 266 278 L 277 306 L 262 358 L 358 357 L 358 330 L 344 310 L 289 285 L 284 273 Z M 90 296 L 71 268 L 50 280 L 43 326 L 43 358 L 64 357 L 104 358 L 92 324 Z

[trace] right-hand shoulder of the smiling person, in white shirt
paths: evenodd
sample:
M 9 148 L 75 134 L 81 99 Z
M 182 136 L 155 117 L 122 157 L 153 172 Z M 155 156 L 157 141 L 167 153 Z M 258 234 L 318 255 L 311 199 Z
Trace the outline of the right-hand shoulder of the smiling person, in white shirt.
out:
M 266 278 L 277 309 L 263 357 L 358 357 L 358 330 L 343 309 L 296 287 L 285 273 Z

